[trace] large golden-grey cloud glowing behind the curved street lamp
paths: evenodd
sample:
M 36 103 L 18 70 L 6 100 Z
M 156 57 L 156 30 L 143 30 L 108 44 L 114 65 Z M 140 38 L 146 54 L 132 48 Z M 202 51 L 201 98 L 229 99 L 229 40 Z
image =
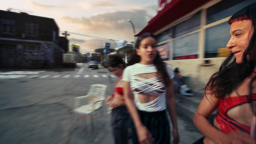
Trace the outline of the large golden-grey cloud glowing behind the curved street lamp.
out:
M 65 22 L 77 26 L 81 32 L 101 36 L 108 36 L 111 33 L 115 33 L 118 37 L 126 37 L 127 33 L 129 33 L 129 35 L 133 33 L 132 26 L 130 22 L 128 22 L 129 19 L 132 20 L 135 30 L 138 33 L 141 29 L 145 28 L 148 20 L 151 18 L 152 16 L 147 15 L 147 11 L 145 10 L 131 10 L 105 12 L 93 15 L 89 18 L 63 17 L 62 19 L 65 20 Z

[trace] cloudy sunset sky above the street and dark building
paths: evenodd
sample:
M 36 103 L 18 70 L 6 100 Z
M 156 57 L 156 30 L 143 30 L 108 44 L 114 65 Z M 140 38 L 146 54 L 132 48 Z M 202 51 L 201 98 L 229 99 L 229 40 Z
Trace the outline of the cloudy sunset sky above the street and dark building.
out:
M 134 41 L 135 32 L 147 26 L 157 14 L 157 0 L 0 0 L 0 10 L 26 12 L 55 20 L 64 31 L 69 45 L 80 46 L 80 52 L 93 52 L 108 42 L 112 48 L 119 40 Z M 112 39 L 112 40 L 109 40 Z M 70 48 L 71 49 L 71 48 Z

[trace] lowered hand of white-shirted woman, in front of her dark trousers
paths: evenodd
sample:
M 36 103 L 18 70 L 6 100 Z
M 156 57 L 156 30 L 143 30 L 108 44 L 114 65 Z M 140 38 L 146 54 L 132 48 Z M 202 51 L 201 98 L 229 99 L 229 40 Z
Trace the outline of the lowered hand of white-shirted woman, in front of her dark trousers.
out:
M 152 135 L 148 131 L 147 127 L 143 126 L 137 129 L 138 141 L 140 144 L 152 144 L 155 143 Z

